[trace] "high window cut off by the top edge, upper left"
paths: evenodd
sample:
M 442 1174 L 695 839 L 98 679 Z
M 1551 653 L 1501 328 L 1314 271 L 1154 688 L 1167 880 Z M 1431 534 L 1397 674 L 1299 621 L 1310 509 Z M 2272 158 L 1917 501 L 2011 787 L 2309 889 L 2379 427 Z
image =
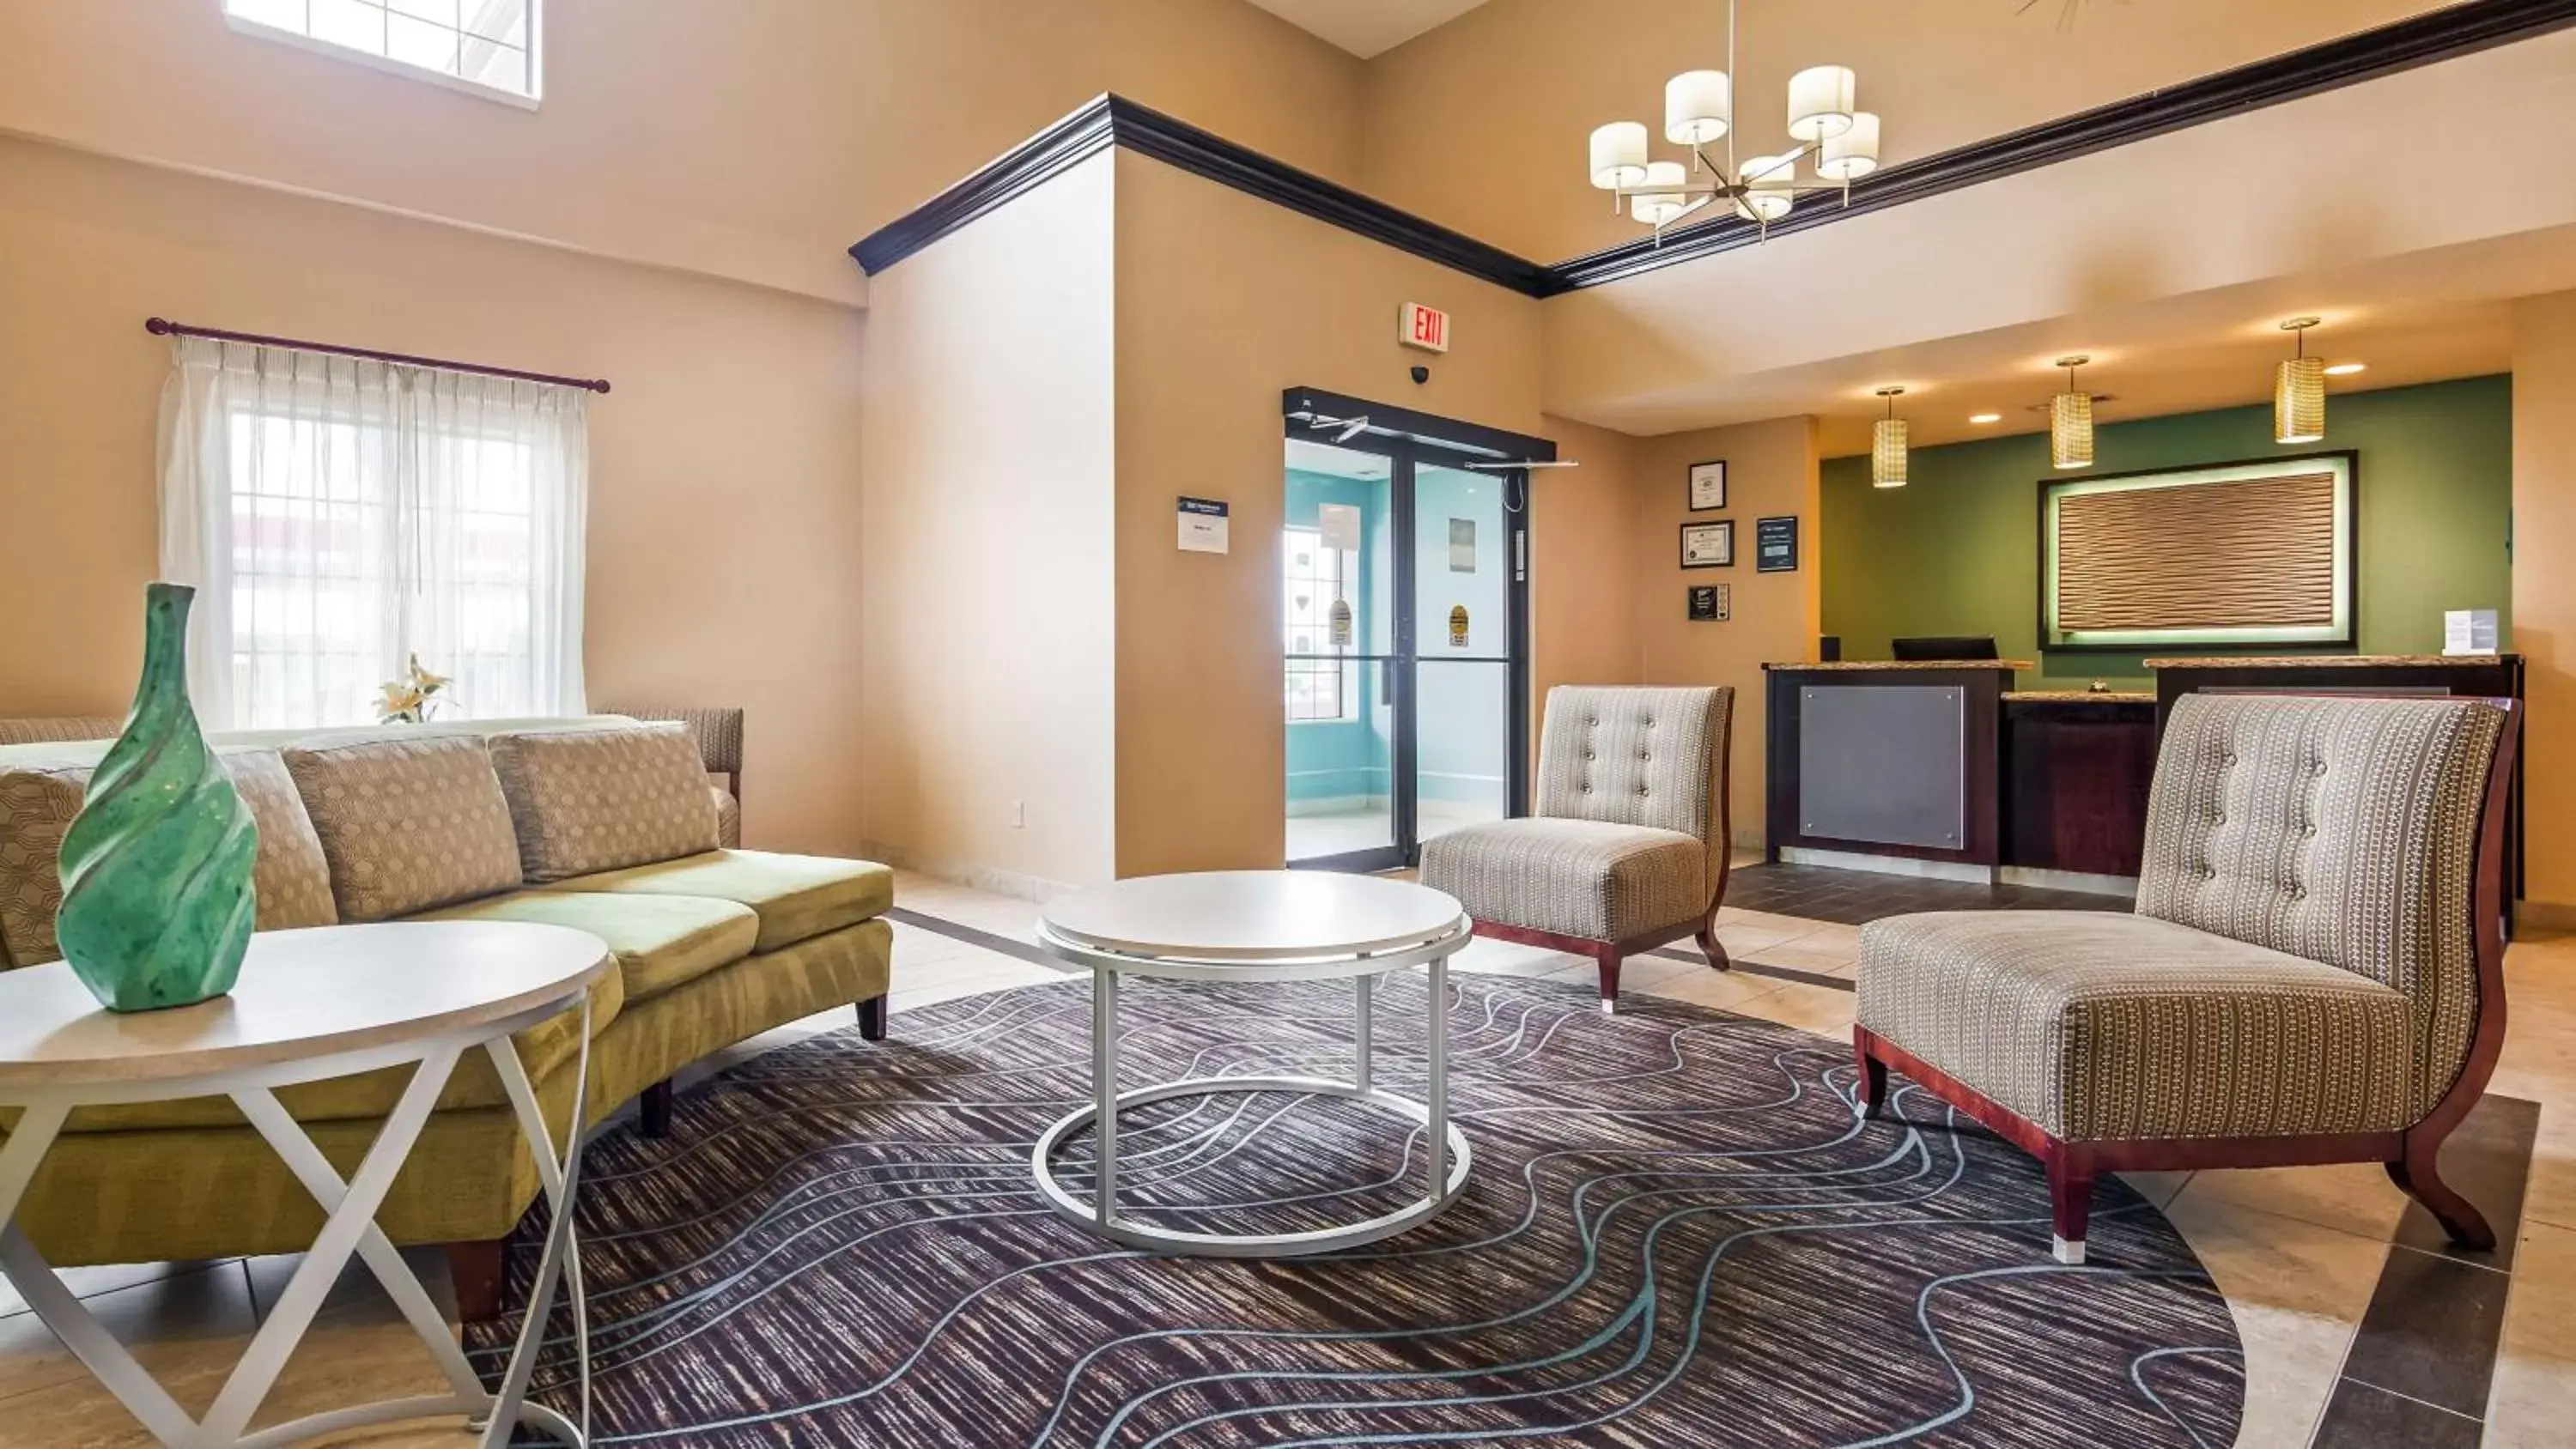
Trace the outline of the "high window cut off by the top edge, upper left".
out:
M 538 98 L 538 0 L 224 0 L 234 31 L 518 106 Z

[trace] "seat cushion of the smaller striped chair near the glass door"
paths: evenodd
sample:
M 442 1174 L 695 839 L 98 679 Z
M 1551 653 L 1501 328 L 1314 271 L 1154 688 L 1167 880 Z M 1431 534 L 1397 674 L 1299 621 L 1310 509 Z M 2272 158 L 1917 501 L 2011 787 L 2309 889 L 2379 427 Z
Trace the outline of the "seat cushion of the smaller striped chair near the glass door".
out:
M 1620 942 L 1708 914 L 1698 836 L 1610 821 L 1494 821 L 1422 844 L 1422 883 L 1479 921 Z

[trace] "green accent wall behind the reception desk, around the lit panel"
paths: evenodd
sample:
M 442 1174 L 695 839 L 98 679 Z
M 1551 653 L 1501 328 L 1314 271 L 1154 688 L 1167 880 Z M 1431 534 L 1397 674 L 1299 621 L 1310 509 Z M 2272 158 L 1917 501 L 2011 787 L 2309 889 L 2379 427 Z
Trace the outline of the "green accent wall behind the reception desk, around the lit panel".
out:
M 2326 440 L 2290 448 L 2272 443 L 2269 404 L 2105 422 L 2084 474 L 2342 448 L 2360 453 L 2360 651 L 2439 654 L 2442 610 L 2496 610 L 2512 638 L 2512 376 L 2334 394 Z M 1873 489 L 1868 456 L 1824 461 L 1824 633 L 1844 659 L 1888 659 L 1896 636 L 1991 633 L 2007 659 L 2040 661 L 2022 687 L 2151 687 L 2146 654 L 2038 651 L 2040 479 L 2076 476 L 2048 466 L 2045 432 L 1917 448 L 1906 471 L 1909 486 Z

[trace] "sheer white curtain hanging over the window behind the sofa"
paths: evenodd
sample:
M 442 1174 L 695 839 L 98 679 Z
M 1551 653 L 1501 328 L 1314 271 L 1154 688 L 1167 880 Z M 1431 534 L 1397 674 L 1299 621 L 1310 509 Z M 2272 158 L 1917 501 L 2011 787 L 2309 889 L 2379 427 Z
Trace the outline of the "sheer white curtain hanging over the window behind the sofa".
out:
M 412 654 L 440 718 L 582 713 L 582 389 L 178 337 L 162 577 L 196 584 L 209 728 L 374 723 Z

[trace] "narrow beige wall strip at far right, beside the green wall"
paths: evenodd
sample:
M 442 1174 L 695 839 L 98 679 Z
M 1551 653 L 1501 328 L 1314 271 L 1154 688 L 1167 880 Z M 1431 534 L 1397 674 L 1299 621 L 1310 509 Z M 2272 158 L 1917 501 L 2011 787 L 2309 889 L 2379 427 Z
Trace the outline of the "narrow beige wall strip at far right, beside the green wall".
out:
M 2514 309 L 2514 649 L 2535 916 L 2576 927 L 2576 291 Z

